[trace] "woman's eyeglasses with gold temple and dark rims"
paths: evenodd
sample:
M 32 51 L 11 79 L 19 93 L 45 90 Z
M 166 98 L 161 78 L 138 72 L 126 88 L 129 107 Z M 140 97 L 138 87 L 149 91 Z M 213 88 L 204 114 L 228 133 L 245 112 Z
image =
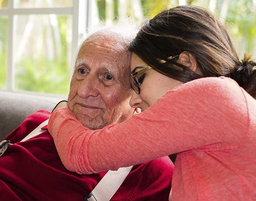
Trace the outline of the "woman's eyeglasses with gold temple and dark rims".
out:
M 171 57 L 168 57 L 167 59 L 170 60 L 170 59 L 173 59 L 173 58 L 176 58 L 176 57 L 179 57 L 179 55 L 171 56 Z M 167 60 L 163 60 L 162 59 L 162 60 L 159 61 L 160 64 L 164 64 L 165 62 L 167 62 Z M 146 72 L 149 69 L 152 69 L 152 67 L 151 66 L 147 66 L 147 67 L 145 67 L 145 68 L 143 68 L 141 70 L 138 70 L 137 72 L 134 72 L 134 73 L 130 74 L 130 76 L 129 76 L 129 81 L 130 81 L 130 84 L 131 84 L 131 88 L 137 94 L 140 93 L 141 87 L 140 87 L 138 79 L 135 76 L 138 76 L 139 74 L 141 74 L 143 72 Z

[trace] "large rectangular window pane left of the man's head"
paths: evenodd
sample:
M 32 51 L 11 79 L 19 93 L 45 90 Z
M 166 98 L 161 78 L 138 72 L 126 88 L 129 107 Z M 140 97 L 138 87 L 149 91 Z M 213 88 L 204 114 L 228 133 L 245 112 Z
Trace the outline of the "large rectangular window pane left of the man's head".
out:
M 71 22 L 70 15 L 14 17 L 15 89 L 68 94 Z

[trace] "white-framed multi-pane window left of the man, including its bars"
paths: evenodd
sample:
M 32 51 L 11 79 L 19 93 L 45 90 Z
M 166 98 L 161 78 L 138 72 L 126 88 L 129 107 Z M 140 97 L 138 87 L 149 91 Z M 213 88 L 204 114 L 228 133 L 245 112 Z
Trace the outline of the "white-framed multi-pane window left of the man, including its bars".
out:
M 1 89 L 68 93 L 78 8 L 77 0 L 0 1 Z

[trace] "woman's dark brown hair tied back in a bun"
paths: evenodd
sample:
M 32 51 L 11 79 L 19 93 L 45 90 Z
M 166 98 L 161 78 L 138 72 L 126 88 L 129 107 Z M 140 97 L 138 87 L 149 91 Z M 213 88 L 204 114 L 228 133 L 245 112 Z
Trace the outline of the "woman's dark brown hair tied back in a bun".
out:
M 226 76 L 256 98 L 256 63 L 246 54 L 239 61 L 225 27 L 204 8 L 178 6 L 160 12 L 143 23 L 129 50 L 153 69 L 181 82 Z M 200 74 L 168 59 L 183 51 L 195 57 Z M 160 60 L 167 62 L 161 64 Z

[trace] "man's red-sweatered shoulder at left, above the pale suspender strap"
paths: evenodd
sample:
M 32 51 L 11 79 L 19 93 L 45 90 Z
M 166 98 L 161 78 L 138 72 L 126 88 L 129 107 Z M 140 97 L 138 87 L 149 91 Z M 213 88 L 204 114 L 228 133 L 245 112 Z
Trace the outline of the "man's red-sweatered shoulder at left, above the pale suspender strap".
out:
M 35 113 L 28 115 L 28 117 L 19 125 L 14 131 L 12 131 L 5 140 L 10 140 L 11 143 L 21 141 L 31 131 L 33 131 L 38 125 L 45 120 L 49 119 L 51 112 L 47 110 L 38 110 Z

